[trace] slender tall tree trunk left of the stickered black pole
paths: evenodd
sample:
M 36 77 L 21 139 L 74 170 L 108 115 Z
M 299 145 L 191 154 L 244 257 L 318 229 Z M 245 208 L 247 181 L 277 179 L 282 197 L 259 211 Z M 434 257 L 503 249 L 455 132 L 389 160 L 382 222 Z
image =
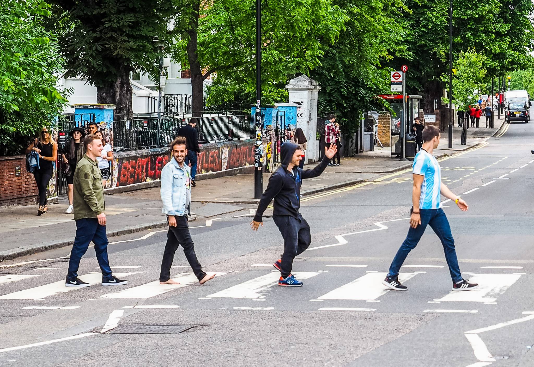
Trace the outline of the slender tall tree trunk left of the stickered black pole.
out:
M 198 25 L 199 25 L 200 1 L 194 1 L 191 9 L 189 21 L 189 42 L 187 42 L 187 59 L 189 60 L 189 71 L 191 73 L 192 89 L 192 117 L 201 117 L 204 109 L 204 77 L 198 59 Z

